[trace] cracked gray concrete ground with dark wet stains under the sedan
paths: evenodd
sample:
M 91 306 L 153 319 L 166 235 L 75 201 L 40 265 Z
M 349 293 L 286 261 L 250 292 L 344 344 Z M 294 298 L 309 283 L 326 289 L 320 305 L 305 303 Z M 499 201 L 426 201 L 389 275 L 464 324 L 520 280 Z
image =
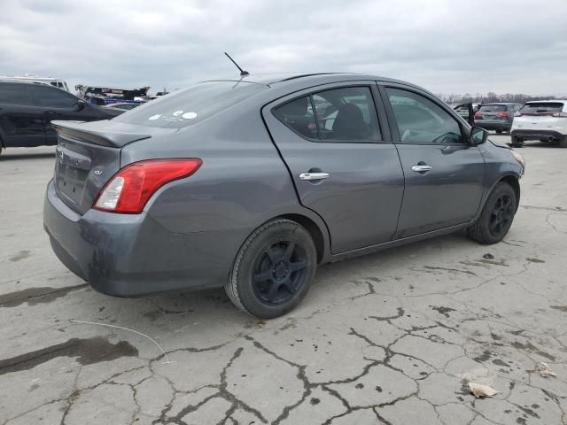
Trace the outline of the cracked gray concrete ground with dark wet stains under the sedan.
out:
M 445 236 L 324 266 L 274 321 L 221 290 L 90 290 L 43 232 L 53 148 L 3 152 L 0 423 L 566 424 L 567 150 L 519 151 L 504 242 Z M 475 399 L 467 380 L 499 393 Z

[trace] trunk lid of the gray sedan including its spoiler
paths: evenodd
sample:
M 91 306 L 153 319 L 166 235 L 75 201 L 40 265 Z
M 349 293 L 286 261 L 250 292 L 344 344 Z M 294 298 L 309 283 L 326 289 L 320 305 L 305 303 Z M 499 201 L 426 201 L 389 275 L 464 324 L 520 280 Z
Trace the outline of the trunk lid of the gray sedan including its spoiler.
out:
M 58 197 L 77 213 L 89 211 L 105 183 L 120 170 L 128 143 L 175 129 L 145 128 L 113 121 L 52 121 L 58 132 L 54 184 Z

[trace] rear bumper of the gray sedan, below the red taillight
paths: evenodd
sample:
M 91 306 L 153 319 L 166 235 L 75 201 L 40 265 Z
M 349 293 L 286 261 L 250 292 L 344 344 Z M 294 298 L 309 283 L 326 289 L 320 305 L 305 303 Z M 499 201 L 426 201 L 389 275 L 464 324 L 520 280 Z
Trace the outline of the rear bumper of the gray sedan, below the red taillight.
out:
M 226 282 L 244 230 L 175 234 L 147 213 L 75 213 L 50 182 L 43 227 L 58 259 L 97 291 L 128 297 Z M 227 249 L 228 247 L 228 249 Z

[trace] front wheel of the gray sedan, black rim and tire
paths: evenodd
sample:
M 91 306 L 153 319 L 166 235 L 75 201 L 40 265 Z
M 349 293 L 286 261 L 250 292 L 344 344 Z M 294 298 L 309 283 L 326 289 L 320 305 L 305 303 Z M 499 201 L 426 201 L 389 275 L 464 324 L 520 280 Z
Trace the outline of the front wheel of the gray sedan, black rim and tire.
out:
M 498 243 L 512 226 L 516 210 L 516 192 L 508 183 L 500 182 L 486 199 L 478 219 L 467 228 L 467 234 L 478 243 Z

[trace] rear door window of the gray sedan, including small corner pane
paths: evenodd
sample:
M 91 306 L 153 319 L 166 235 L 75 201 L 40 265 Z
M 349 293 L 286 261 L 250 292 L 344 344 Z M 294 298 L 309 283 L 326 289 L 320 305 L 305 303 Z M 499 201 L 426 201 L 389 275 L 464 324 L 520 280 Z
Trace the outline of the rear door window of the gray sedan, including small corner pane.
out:
M 368 87 L 320 91 L 278 106 L 274 114 L 300 135 L 322 142 L 382 140 L 376 107 Z

